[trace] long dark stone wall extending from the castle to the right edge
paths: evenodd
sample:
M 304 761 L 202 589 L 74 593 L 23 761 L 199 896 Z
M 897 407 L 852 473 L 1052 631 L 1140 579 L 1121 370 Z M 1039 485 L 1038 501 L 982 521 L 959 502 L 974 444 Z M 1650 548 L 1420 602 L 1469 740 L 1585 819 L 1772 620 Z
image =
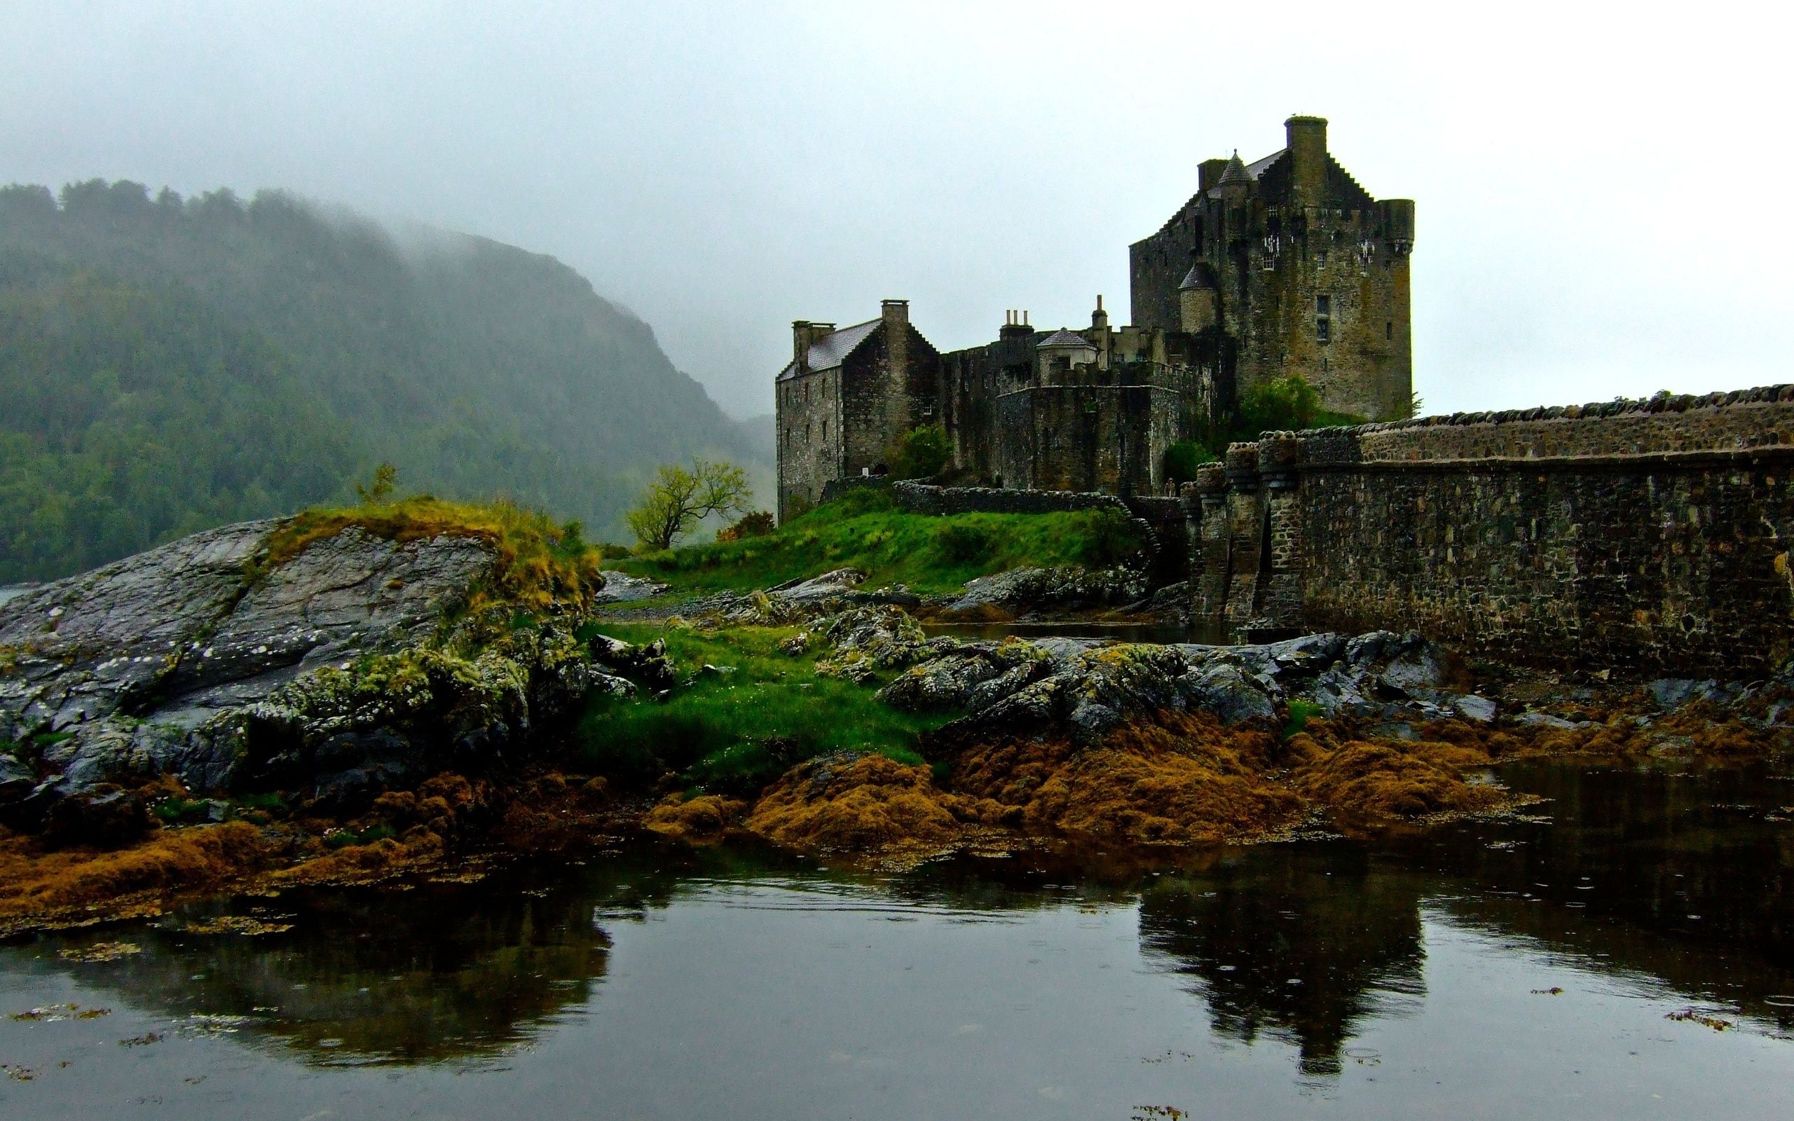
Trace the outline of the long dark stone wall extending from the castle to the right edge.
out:
M 1236 445 L 1186 488 L 1195 610 L 1588 669 L 1794 655 L 1794 386 Z

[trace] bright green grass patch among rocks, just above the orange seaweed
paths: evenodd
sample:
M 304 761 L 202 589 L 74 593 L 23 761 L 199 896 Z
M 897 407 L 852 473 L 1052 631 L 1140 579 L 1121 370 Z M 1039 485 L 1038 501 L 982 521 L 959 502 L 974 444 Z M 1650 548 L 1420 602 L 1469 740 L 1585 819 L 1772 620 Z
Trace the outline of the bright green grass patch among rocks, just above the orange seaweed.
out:
M 951 719 L 897 712 L 874 698 L 877 685 L 816 676 L 814 655 L 793 658 L 777 649 L 795 628 L 718 635 L 651 624 L 601 630 L 626 642 L 666 637 L 682 678 L 705 664 L 736 669 L 698 673 L 666 701 L 605 696 L 587 705 L 576 728 L 578 750 L 590 768 L 626 784 L 675 773 L 685 787 L 753 793 L 804 759 L 841 750 L 919 764 L 917 735 Z

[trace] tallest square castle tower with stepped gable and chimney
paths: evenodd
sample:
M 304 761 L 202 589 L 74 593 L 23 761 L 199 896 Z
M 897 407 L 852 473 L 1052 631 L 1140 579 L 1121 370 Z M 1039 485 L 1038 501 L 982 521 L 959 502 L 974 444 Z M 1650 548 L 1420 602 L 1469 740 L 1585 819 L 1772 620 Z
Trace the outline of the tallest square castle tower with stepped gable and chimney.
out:
M 1326 409 L 1403 418 L 1414 203 L 1358 187 L 1326 120 L 1285 129 L 1285 149 L 1256 163 L 1206 160 L 1197 194 L 1128 248 L 1134 325 L 1215 337 L 1224 396 L 1299 373 Z

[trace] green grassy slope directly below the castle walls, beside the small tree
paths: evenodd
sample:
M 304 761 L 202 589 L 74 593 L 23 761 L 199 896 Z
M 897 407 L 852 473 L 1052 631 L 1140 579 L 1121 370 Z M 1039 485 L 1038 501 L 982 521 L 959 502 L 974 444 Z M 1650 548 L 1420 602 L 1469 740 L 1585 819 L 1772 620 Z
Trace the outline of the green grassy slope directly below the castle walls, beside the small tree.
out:
M 768 536 L 669 549 L 612 567 L 666 581 L 675 592 L 707 594 L 766 588 L 852 565 L 874 587 L 902 583 L 931 594 L 1008 569 L 1114 563 L 1139 545 L 1116 534 L 1112 515 L 1102 511 L 936 518 L 901 511 L 888 491 L 865 488 Z

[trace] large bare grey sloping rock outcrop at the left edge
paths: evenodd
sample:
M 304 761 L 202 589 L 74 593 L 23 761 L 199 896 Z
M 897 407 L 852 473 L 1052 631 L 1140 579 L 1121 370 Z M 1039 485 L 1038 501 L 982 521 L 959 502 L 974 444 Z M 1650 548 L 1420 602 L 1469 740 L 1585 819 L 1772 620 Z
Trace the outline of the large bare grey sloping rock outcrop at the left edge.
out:
M 628 685 L 570 621 L 483 642 L 450 624 L 499 560 L 481 536 L 348 527 L 269 567 L 280 526 L 199 533 L 0 604 L 0 816 L 36 827 L 158 777 L 379 789 Z

